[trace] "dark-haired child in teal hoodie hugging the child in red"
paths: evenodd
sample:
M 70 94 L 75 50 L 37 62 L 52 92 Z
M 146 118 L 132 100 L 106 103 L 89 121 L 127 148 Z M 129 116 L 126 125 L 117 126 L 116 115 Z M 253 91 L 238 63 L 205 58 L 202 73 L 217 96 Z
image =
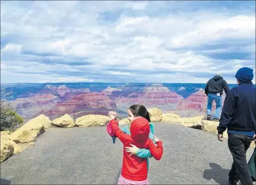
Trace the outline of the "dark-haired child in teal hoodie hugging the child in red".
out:
M 149 121 L 149 126 L 150 126 L 150 133 L 149 133 L 149 138 L 154 139 L 154 124 L 150 122 L 150 117 L 149 117 L 149 112 L 143 105 L 132 105 L 129 107 L 128 110 L 128 119 L 130 122 L 135 118 L 135 117 L 144 117 Z M 121 129 L 125 134 L 131 135 L 130 132 L 130 125 L 126 125 L 122 127 Z M 113 143 L 115 143 L 116 137 L 113 136 Z M 154 141 L 154 140 L 153 140 Z M 155 143 L 155 142 L 154 142 Z M 132 145 L 131 145 L 132 146 Z M 148 149 L 139 149 L 135 152 L 136 156 L 139 156 L 140 158 L 152 158 L 152 155 L 150 154 L 150 151 Z M 148 163 L 148 168 L 149 168 L 149 160 L 147 160 Z

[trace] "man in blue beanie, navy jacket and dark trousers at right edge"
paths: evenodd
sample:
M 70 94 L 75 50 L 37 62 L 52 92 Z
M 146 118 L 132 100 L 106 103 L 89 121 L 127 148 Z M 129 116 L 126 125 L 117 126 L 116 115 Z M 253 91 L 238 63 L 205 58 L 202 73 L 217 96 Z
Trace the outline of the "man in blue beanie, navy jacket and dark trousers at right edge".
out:
M 232 88 L 225 98 L 217 127 L 218 140 L 223 141 L 227 129 L 228 148 L 233 156 L 233 164 L 228 174 L 228 183 L 253 184 L 246 161 L 246 151 L 252 143 L 256 131 L 256 91 L 253 86 L 253 69 L 241 68 L 237 71 L 238 87 Z

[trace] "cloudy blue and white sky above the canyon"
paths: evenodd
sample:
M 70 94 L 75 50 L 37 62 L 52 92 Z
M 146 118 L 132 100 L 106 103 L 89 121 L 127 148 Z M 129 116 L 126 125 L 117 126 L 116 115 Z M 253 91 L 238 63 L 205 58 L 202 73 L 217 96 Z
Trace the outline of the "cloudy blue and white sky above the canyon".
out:
M 1 1 L 1 83 L 235 83 L 241 67 L 255 75 L 255 1 Z

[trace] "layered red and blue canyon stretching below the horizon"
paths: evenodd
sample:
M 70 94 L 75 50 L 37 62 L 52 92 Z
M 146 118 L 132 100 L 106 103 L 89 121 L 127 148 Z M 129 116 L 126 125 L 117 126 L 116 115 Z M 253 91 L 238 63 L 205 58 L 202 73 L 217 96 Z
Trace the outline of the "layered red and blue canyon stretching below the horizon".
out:
M 235 84 L 230 84 L 230 88 Z M 181 117 L 203 116 L 207 107 L 205 84 L 149 83 L 17 83 L 1 84 L 12 92 L 10 105 L 25 121 L 40 114 L 57 118 L 68 113 L 74 118 L 117 111 L 127 116 L 132 104 L 157 107 Z M 222 103 L 225 92 L 222 95 Z M 213 112 L 215 103 L 213 103 Z

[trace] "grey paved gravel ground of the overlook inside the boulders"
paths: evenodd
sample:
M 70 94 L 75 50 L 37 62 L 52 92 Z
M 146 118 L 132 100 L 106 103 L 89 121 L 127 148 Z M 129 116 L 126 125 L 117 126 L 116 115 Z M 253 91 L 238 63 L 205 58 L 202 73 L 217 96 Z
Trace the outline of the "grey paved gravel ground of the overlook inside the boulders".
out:
M 224 142 L 202 130 L 156 123 L 160 161 L 150 159 L 150 184 L 227 184 L 232 158 Z M 253 149 L 248 151 L 248 159 Z M 106 127 L 50 129 L 35 146 L 1 163 L 1 184 L 115 184 L 122 144 Z

